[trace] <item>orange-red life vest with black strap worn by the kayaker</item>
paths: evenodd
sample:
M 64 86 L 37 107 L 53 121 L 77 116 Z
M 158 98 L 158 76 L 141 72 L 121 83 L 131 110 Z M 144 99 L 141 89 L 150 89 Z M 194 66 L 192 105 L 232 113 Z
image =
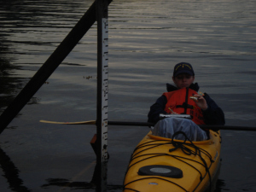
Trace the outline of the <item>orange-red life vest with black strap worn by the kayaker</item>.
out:
M 192 99 L 189 99 L 189 96 L 194 96 L 195 94 L 197 92 L 189 88 L 164 93 L 163 95 L 167 98 L 165 111 L 167 113 L 174 111 L 178 114 L 190 114 L 195 124 L 205 125 L 201 108 Z

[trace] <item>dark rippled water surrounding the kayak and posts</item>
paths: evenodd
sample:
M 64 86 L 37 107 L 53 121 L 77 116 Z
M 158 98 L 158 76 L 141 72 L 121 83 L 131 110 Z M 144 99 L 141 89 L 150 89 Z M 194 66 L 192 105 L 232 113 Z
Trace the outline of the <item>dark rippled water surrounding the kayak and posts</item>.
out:
M 0 1 L 1 113 L 92 1 Z M 254 0 L 116 0 L 109 6 L 108 119 L 146 121 L 150 105 L 187 61 L 223 108 L 226 125 L 256 126 Z M 96 25 L 0 136 L 1 191 L 95 191 Z M 109 126 L 108 191 L 121 191 L 145 127 Z M 216 191 L 256 191 L 255 133 L 222 131 Z

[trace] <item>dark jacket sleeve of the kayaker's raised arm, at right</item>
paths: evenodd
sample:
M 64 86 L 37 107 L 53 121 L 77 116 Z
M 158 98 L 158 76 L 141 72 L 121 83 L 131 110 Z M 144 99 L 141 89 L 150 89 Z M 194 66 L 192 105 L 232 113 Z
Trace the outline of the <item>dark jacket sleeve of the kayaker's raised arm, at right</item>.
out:
M 206 93 L 204 97 L 208 105 L 207 110 L 202 111 L 206 125 L 224 125 L 225 119 L 223 110 L 219 108 L 216 102 Z

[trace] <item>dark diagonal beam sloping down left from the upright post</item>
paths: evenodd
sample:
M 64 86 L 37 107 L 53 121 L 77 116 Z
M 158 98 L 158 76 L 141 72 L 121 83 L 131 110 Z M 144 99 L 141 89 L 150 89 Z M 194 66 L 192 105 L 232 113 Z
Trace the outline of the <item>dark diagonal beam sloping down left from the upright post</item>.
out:
M 107 0 L 108 4 L 112 0 Z M 9 123 L 20 113 L 20 110 L 24 108 L 27 102 L 36 94 L 44 82 L 49 76 L 54 73 L 55 69 L 59 67 L 61 62 L 67 57 L 67 55 L 73 50 L 73 48 L 79 43 L 79 40 L 84 37 L 84 34 L 88 32 L 90 27 L 96 21 L 96 3 L 92 3 L 90 8 L 85 12 L 79 22 L 73 27 L 72 31 L 67 34 L 67 37 L 61 42 L 61 44 L 55 49 L 55 51 L 49 56 L 48 60 L 44 62 L 44 65 L 39 68 L 38 72 L 32 77 L 32 79 L 26 84 L 26 86 L 15 97 L 0 116 L 0 134 L 9 125 Z

